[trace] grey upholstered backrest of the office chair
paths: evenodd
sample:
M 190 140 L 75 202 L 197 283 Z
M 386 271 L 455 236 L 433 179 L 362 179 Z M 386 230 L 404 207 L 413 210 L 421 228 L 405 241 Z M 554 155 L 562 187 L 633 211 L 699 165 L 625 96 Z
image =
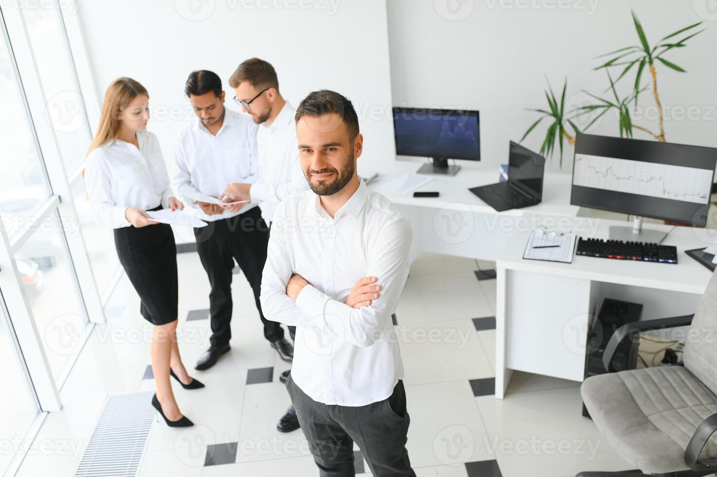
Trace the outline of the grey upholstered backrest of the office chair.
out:
M 717 273 L 712 274 L 685 342 L 685 368 L 717 394 Z

